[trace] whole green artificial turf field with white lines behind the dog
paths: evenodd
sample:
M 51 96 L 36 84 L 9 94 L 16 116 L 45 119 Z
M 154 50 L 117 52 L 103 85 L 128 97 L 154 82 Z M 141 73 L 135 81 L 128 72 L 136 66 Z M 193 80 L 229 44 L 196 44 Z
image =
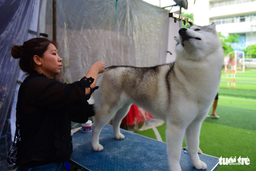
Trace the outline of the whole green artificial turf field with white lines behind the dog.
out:
M 249 165 L 221 165 L 218 171 L 256 171 L 256 69 L 237 73 L 236 87 L 227 86 L 224 73 L 221 80 L 225 82 L 220 84 L 216 109 L 220 118 L 209 117 L 203 122 L 200 149 L 204 154 L 218 158 L 241 156 L 250 159 Z M 157 127 L 164 142 L 165 129 L 166 124 Z M 156 139 L 152 129 L 135 133 Z

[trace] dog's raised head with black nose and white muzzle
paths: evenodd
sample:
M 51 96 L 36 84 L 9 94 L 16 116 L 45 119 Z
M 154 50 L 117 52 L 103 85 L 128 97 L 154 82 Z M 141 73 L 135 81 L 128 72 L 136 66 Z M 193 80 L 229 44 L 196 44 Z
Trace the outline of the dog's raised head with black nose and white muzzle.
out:
M 191 26 L 181 28 L 176 40 L 177 54 L 188 54 L 191 58 L 199 60 L 216 49 L 221 48 L 221 43 L 216 32 L 216 23 L 209 26 Z

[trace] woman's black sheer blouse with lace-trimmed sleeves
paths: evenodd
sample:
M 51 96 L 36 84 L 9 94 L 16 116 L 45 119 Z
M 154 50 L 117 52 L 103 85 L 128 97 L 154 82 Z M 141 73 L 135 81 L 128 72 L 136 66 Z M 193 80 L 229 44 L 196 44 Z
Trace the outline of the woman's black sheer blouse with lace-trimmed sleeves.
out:
M 90 94 L 85 94 L 85 87 L 93 81 L 83 77 L 63 84 L 43 74 L 27 77 L 18 93 L 16 133 L 8 163 L 34 167 L 42 165 L 41 161 L 68 161 L 73 152 L 70 121 L 85 123 L 94 115 L 87 102 Z

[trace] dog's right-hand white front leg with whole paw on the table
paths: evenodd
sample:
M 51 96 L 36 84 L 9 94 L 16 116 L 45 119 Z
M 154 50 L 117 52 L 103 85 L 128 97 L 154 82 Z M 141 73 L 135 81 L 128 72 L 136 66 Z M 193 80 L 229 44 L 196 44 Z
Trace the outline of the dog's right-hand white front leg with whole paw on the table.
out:
M 203 119 L 195 119 L 186 130 L 186 142 L 188 154 L 194 168 L 198 170 L 207 169 L 207 165 L 200 161 L 198 156 L 199 135 Z

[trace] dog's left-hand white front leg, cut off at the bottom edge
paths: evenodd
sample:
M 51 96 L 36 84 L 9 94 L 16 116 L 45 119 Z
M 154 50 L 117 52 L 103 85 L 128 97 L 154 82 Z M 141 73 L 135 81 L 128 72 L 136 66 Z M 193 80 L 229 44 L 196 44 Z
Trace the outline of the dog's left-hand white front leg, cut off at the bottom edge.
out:
M 168 150 L 168 161 L 171 171 L 181 171 L 180 158 L 182 142 L 186 127 L 166 122 L 166 141 Z

